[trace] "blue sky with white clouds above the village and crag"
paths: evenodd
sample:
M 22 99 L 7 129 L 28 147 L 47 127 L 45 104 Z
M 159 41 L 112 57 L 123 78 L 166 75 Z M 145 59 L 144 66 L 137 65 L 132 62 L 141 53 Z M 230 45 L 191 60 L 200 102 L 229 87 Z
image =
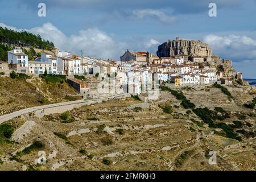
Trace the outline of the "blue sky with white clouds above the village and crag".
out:
M 38 16 L 39 3 L 46 17 Z M 156 53 L 179 37 L 210 44 L 245 78 L 256 78 L 256 0 L 0 0 L 0 7 L 1 27 L 40 34 L 77 55 L 119 60 L 128 48 Z

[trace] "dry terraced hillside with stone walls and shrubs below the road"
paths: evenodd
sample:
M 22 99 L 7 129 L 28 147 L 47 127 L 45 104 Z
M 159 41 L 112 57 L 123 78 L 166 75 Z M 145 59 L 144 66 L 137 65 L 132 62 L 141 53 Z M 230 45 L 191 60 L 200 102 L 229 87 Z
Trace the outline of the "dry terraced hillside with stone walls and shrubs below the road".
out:
M 230 96 L 214 87 L 177 93 L 163 88 L 159 99 L 149 104 L 124 98 L 41 119 L 34 114 L 14 118 L 5 122 L 14 131 L 12 137 L 2 140 L 16 142 L 0 144 L 0 168 L 255 170 L 255 115 L 244 104 L 253 100 L 256 90 L 226 88 Z M 185 98 L 192 103 L 190 109 L 183 106 Z M 196 111 L 205 107 L 211 114 L 199 117 Z M 35 165 L 42 150 L 46 164 Z M 209 151 L 217 152 L 217 165 L 208 163 Z

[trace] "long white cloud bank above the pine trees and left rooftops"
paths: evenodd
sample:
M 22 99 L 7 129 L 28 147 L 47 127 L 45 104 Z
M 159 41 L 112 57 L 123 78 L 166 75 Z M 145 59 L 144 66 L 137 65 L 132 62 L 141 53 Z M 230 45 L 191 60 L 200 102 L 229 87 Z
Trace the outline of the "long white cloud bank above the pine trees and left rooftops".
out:
M 104 59 L 119 60 L 119 56 L 125 52 L 127 48 L 134 51 L 150 51 L 156 49 L 160 44 L 157 40 L 126 40 L 126 42 L 115 42 L 111 36 L 98 30 L 97 28 L 88 28 L 81 30 L 77 35 L 67 36 L 61 32 L 52 23 L 44 23 L 42 27 L 34 27 L 31 29 L 18 29 L 0 23 L 0 27 L 6 27 L 15 31 L 27 31 L 32 34 L 39 34 L 43 39 L 49 40 L 55 44 L 55 47 L 71 51 L 79 54 L 80 50 L 85 52 L 87 56 L 93 56 Z

